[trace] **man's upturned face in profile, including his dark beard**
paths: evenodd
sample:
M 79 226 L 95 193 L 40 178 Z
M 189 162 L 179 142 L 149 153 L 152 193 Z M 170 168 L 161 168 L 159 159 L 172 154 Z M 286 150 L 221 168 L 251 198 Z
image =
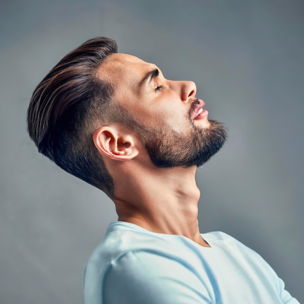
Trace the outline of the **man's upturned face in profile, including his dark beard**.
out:
M 208 121 L 193 82 L 168 80 L 155 65 L 119 53 L 104 61 L 103 75 L 109 75 L 115 102 L 133 117 L 155 166 L 200 166 L 220 150 L 225 129 Z

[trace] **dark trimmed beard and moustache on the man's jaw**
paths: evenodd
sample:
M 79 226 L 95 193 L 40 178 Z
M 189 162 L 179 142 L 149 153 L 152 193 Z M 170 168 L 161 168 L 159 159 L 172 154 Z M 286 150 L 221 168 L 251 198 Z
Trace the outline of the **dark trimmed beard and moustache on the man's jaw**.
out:
M 187 135 L 169 126 L 155 129 L 142 125 L 139 128 L 142 143 L 156 167 L 199 167 L 220 151 L 227 132 L 216 120 L 209 120 L 210 125 L 205 128 L 196 125 L 192 116 L 198 103 L 192 103 L 186 117 L 190 125 Z

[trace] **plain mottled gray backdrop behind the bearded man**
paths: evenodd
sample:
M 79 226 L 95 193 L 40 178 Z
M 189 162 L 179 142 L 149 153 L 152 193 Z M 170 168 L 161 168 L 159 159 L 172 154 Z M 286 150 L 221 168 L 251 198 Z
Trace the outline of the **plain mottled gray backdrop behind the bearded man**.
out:
M 94 36 L 193 80 L 229 141 L 198 170 L 202 232 L 260 253 L 304 303 L 301 0 L 1 0 L 0 303 L 82 303 L 82 271 L 113 203 L 36 151 L 34 87 Z

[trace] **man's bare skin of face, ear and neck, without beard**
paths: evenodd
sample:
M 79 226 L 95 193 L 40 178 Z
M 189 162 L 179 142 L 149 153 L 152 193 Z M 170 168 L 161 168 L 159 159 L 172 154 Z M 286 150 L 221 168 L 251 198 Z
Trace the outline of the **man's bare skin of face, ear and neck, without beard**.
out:
M 204 102 L 197 100 L 193 82 L 167 80 L 160 70 L 159 75 L 154 73 L 142 81 L 156 68 L 135 56 L 116 53 L 104 61 L 97 75 L 114 84 L 115 102 L 135 120 L 159 130 L 158 140 L 168 142 L 176 133 L 191 143 L 193 130 L 212 129 L 214 122 L 208 121 L 207 111 L 194 117 Z M 196 165 L 155 166 L 141 135 L 119 123 L 99 127 L 93 140 L 115 182 L 113 201 L 118 220 L 156 233 L 186 236 L 209 247 L 197 220 L 200 190 L 195 182 Z M 179 144 L 171 143 L 170 149 L 179 149 Z

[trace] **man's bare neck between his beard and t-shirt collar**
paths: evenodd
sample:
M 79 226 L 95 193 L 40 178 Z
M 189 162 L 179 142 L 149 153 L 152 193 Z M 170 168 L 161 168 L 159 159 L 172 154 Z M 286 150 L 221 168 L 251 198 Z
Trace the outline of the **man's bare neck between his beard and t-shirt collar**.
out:
M 209 247 L 199 232 L 196 167 L 155 169 L 131 174 L 116 189 L 118 220 L 149 231 L 186 236 Z M 130 171 L 129 171 L 130 172 Z

